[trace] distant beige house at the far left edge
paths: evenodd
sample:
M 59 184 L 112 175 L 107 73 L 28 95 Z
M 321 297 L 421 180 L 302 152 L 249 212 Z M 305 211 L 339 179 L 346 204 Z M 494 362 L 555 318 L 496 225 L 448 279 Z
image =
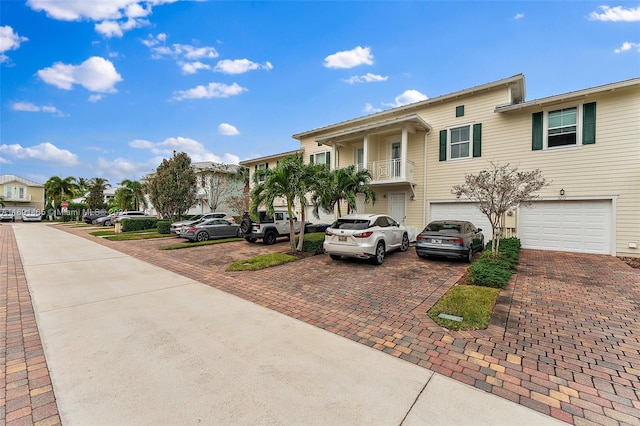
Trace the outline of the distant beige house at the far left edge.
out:
M 16 218 L 25 210 L 44 211 L 44 185 L 16 175 L 0 175 L 0 196 L 6 209 L 16 211 Z

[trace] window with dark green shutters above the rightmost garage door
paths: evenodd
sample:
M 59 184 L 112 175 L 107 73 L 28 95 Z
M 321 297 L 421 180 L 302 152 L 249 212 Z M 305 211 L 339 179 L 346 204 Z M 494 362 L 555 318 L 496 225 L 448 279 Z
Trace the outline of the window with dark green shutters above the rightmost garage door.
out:
M 596 143 L 596 103 L 532 114 L 531 149 L 553 149 Z

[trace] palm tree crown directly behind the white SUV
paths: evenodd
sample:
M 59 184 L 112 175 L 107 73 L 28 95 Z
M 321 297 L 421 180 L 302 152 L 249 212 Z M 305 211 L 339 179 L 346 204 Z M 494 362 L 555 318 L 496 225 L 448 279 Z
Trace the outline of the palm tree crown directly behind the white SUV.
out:
M 315 204 L 313 214 L 319 217 L 318 209 L 333 212 L 338 207 L 338 217 L 342 216 L 340 205 L 347 203 L 347 213 L 356 210 L 359 194 L 364 195 L 365 203 L 377 201 L 376 193 L 369 186 L 371 174 L 368 170 L 356 170 L 355 165 L 344 169 L 327 170 L 313 186 L 312 201 Z

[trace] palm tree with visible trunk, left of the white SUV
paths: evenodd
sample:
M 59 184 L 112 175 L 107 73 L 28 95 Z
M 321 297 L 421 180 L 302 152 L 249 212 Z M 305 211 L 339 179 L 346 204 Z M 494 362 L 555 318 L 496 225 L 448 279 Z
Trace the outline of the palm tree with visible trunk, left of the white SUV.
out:
M 258 183 L 258 176 L 256 176 L 256 186 L 251 191 L 251 215 L 256 217 L 258 215 L 258 207 L 261 205 L 265 206 L 268 214 L 273 215 L 275 210 L 273 202 L 276 198 L 284 198 L 287 202 L 287 213 L 289 213 L 291 253 L 295 253 L 293 209 L 297 198 L 304 211 L 305 195 L 309 191 L 309 169 L 306 168 L 300 155 L 291 155 L 279 161 L 275 168 L 265 169 L 260 173 L 260 176 L 264 177 L 264 181 Z M 301 224 L 302 228 L 304 228 L 304 222 Z M 303 236 L 301 235 L 300 239 L 302 238 Z

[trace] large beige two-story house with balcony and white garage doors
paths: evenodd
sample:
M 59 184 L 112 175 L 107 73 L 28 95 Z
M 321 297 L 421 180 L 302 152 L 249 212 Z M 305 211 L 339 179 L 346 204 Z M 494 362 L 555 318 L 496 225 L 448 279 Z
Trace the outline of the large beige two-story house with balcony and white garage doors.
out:
M 468 219 L 490 238 L 487 219 L 451 187 L 491 162 L 540 169 L 550 185 L 511 212 L 506 235 L 524 248 L 640 257 L 640 78 L 525 94 L 519 74 L 293 138 L 306 161 L 367 168 L 378 202 L 358 211 L 415 229 Z

